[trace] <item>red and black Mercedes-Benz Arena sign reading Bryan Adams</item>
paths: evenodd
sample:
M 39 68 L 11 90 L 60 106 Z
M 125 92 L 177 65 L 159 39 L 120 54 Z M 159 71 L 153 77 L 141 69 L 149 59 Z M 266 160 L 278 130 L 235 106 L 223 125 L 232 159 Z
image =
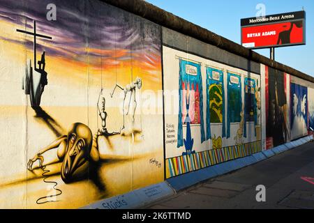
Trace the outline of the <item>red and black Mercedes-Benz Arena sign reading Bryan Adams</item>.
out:
M 250 49 L 305 45 L 305 27 L 305 11 L 242 19 L 241 44 Z

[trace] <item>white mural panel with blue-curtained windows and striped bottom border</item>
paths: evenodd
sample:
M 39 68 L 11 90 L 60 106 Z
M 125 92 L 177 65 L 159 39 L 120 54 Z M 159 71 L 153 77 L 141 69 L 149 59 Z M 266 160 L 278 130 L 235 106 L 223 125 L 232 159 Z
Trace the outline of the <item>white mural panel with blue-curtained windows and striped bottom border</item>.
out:
M 165 46 L 163 69 L 166 178 L 261 151 L 259 75 Z

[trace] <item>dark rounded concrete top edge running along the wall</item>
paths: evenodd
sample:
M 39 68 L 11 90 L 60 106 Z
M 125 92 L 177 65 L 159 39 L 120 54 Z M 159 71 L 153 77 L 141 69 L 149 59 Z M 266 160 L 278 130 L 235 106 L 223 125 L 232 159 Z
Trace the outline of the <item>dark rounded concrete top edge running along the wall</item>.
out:
M 148 3 L 143 0 L 100 0 L 105 3 L 108 3 L 117 8 L 121 8 L 123 10 L 128 11 L 129 13 L 133 13 L 140 17 L 143 17 L 151 22 L 159 24 L 160 26 L 164 26 L 168 29 L 172 29 L 174 31 L 178 31 L 186 36 L 190 36 L 192 38 L 196 38 L 197 40 L 201 40 L 204 43 L 208 43 L 210 45 L 214 45 L 219 47 L 220 49 L 224 49 L 228 52 L 232 52 L 238 56 L 242 56 L 248 60 L 255 61 L 257 63 L 262 63 L 271 68 L 275 68 L 277 70 L 281 70 L 290 75 L 294 75 L 296 77 L 300 77 L 301 79 L 306 79 L 309 82 L 314 83 L 314 77 L 310 75 L 306 75 L 304 72 L 291 68 L 289 66 L 285 66 L 282 63 L 278 63 L 276 61 L 271 61 L 265 56 L 258 54 L 257 52 L 253 52 L 251 49 L 247 49 L 237 43 L 228 40 L 222 36 L 217 35 L 207 29 L 202 28 L 196 24 L 188 22 L 187 20 L 178 17 L 177 15 L 173 15 L 157 6 L 154 6 L 151 3 Z

